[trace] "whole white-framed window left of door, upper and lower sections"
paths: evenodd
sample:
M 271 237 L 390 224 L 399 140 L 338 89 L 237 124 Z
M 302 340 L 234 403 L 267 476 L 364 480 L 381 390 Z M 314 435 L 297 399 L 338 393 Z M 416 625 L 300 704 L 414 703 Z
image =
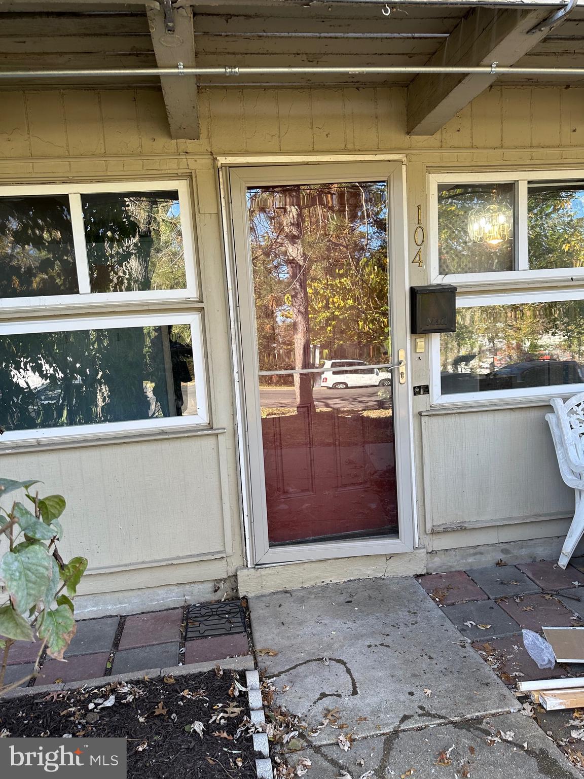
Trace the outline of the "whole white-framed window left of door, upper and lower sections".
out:
M 2 441 L 207 424 L 186 183 L 65 189 L 0 188 Z

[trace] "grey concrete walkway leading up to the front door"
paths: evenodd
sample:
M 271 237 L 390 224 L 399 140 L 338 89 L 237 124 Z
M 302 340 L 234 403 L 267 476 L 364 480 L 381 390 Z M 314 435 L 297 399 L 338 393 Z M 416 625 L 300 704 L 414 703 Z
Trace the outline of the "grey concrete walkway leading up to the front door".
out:
M 277 652 L 259 666 L 289 687 L 277 703 L 307 733 L 333 708 L 347 724 L 303 736 L 307 779 L 579 777 L 416 580 L 326 584 L 250 607 L 255 646 Z M 341 734 L 353 735 L 347 752 Z

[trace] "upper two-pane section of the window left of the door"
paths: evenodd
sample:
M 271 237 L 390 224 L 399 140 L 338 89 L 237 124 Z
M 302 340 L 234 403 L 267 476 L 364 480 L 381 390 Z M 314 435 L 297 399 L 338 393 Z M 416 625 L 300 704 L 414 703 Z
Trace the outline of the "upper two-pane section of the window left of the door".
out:
M 185 182 L 47 189 L 0 188 L 2 305 L 197 297 Z

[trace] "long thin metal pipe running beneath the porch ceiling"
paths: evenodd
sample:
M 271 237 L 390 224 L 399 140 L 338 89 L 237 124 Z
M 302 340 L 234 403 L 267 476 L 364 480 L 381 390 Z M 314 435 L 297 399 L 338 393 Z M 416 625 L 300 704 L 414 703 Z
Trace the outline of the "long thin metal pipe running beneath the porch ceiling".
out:
M 391 76 L 394 74 L 477 74 L 480 76 L 584 76 L 584 68 L 517 68 L 498 65 L 386 65 L 371 67 L 290 67 L 290 68 L 251 68 L 237 65 L 225 65 L 214 68 L 185 68 L 178 62 L 176 68 L 83 68 L 61 70 L 4 70 L 0 71 L 0 80 L 15 79 L 79 79 L 79 78 L 118 78 L 124 76 Z

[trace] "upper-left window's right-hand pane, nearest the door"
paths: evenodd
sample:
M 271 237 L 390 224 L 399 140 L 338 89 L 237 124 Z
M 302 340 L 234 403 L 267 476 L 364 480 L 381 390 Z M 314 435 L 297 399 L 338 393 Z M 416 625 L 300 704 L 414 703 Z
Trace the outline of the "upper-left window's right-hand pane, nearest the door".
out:
M 185 289 L 178 192 L 83 195 L 92 292 Z

